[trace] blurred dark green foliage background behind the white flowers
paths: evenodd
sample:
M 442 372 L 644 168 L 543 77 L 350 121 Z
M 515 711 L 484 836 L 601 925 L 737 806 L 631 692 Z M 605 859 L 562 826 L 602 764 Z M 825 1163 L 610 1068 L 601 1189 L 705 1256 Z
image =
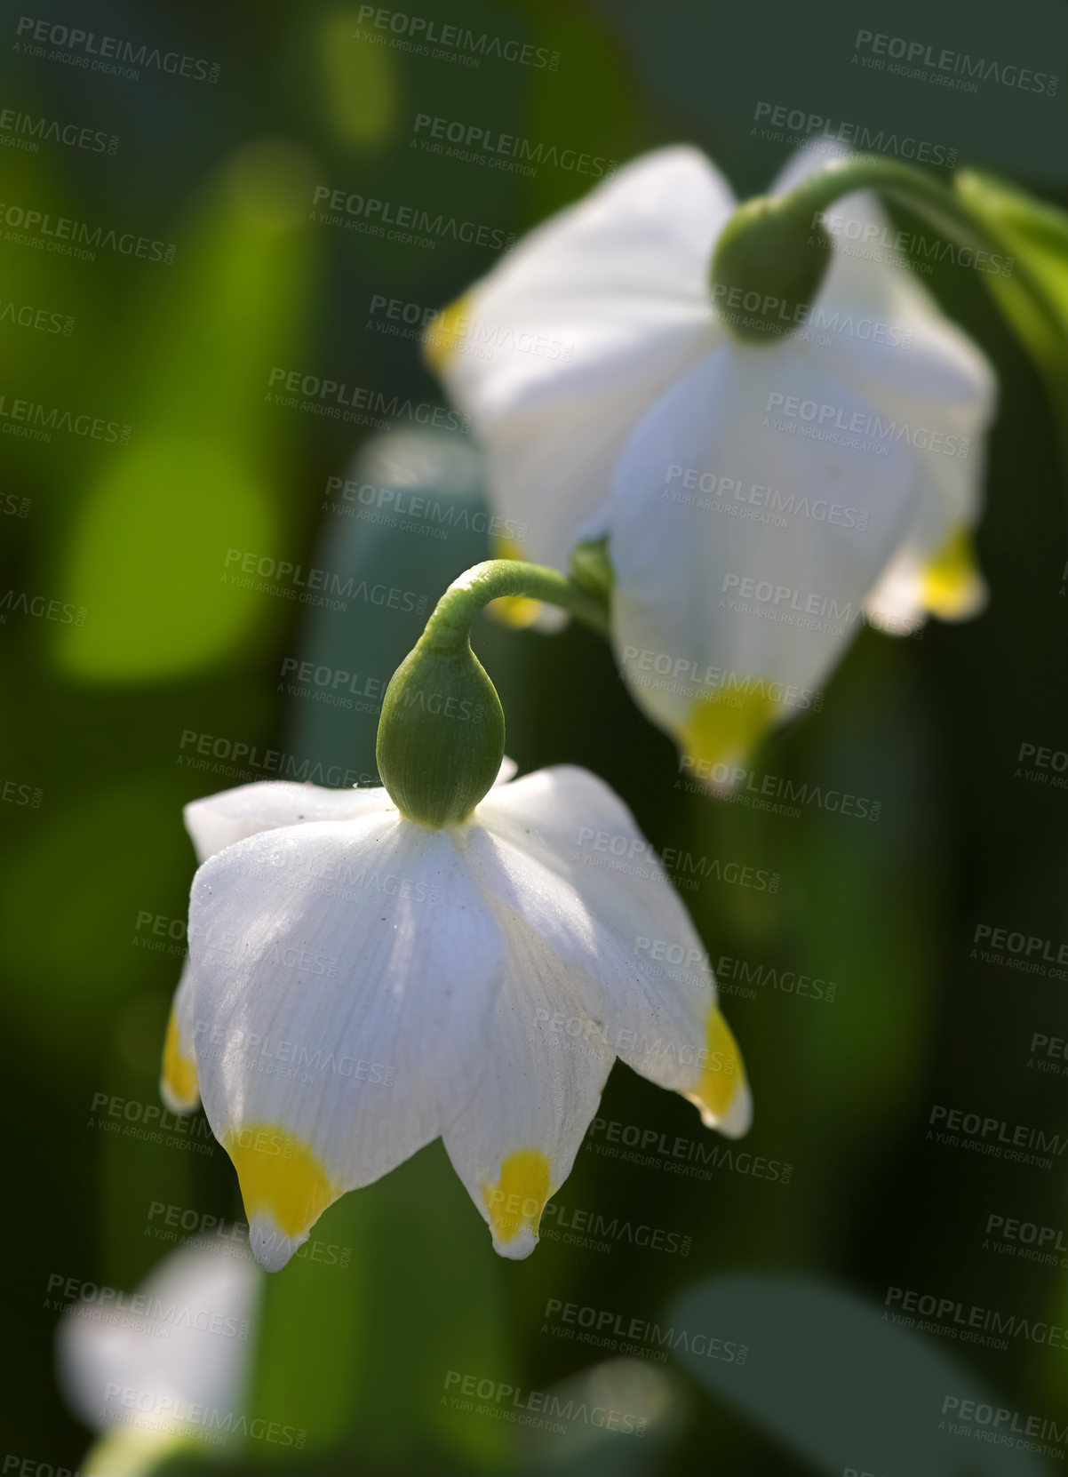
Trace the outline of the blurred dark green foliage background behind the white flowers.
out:
M 1064 6 L 1028 0 L 982 15 L 950 4 L 434 0 L 388 13 L 470 28 L 498 49 L 529 44 L 557 65 L 482 55 L 468 66 L 383 44 L 405 32 L 374 30 L 355 4 L 194 10 L 164 0 L 145 10 L 93 0 L 49 12 L 52 24 L 217 64 L 216 81 L 155 66 L 136 80 L 108 75 L 49 44 L 32 55 L 12 7 L 0 31 L 4 108 L 120 140 L 112 154 L 41 139 L 0 160 L 0 597 L 15 592 L 0 607 L 0 963 L 18 1351 L 4 1471 L 18 1470 L 12 1458 L 74 1470 L 92 1440 L 56 1390 L 49 1278 L 133 1289 L 167 1250 L 154 1235 L 157 1202 L 242 1219 L 222 1149 L 100 1128 L 102 1102 L 121 1100 L 120 1124 L 145 1125 L 160 1106 L 194 871 L 180 806 L 267 777 L 269 749 L 324 783 L 372 777 L 375 697 L 422 625 L 412 609 L 315 610 L 291 588 L 242 588 L 232 551 L 380 582 L 427 609 L 487 552 L 462 518 L 430 538 L 355 515 L 368 505 L 340 502 L 331 483 L 356 477 L 480 510 L 470 437 L 420 430 L 403 411 L 375 412 L 391 424 L 383 430 L 301 409 L 301 396 L 279 403 L 272 371 L 442 406 L 411 321 L 496 253 L 451 235 L 430 248 L 328 225 L 315 192 L 412 205 L 504 239 L 592 183 L 551 165 L 520 177 L 436 158 L 412 146 L 415 115 L 430 114 L 620 161 L 691 140 L 744 196 L 786 157 L 752 133 L 767 99 L 908 128 L 957 146 L 963 164 L 1068 199 L 1064 90 L 971 96 L 851 65 L 855 31 L 869 27 L 1065 71 Z M 0 143 L 12 134 L 0 130 Z M 30 230 L 19 211 L 102 227 L 95 258 L 49 250 L 62 236 Z M 161 247 L 137 256 L 108 244 L 136 238 Z M 171 244 L 173 261 L 152 260 Z M 973 951 L 981 925 L 1053 948 L 1068 939 L 1068 793 L 1028 781 L 1018 764 L 1025 743 L 1068 750 L 1055 430 L 1065 408 L 1047 402 L 978 273 L 944 266 L 925 281 L 1002 385 L 978 539 L 990 609 L 963 626 L 932 623 L 922 640 L 863 632 L 824 710 L 756 761 L 761 774 L 877 801 L 876 823 L 815 808 L 762 815 L 688 793 L 604 645 L 578 629 L 544 638 L 487 620 L 476 634 L 521 770 L 586 765 L 657 848 L 780 874 L 774 895 L 706 879 L 684 898 L 713 963 L 744 962 L 721 969 L 756 1099 L 744 1148 L 789 1164 L 789 1182 L 613 1161 L 597 1152 L 604 1131 L 591 1134 L 557 1202 L 691 1238 L 688 1254 L 625 1239 L 591 1250 L 561 1233 L 513 1264 L 492 1254 L 440 1145 L 430 1146 L 325 1214 L 316 1235 L 349 1248 L 346 1267 L 294 1261 L 269 1282 L 250 1409 L 306 1428 L 307 1446 L 294 1458 L 250 1442 L 227 1470 L 841 1471 L 849 1458 L 830 1465 L 798 1428 L 787 1387 L 796 1375 L 830 1391 L 824 1431 L 846 1419 L 848 1371 L 864 1351 L 861 1332 L 835 1322 L 843 1292 L 873 1310 L 864 1337 L 876 1341 L 889 1285 L 1068 1323 L 1067 1270 L 984 1248 L 994 1213 L 1068 1238 L 1065 1161 L 1037 1170 L 928 1137 L 935 1103 L 1068 1134 L 1059 1074 L 1028 1065 L 1036 1032 L 1068 1035 L 1065 981 Z M 415 306 L 408 321 L 388 316 L 391 301 Z M 49 440 L 18 433 L 18 400 L 58 409 Z M 102 428 L 64 430 L 66 412 L 71 425 Z M 417 422 L 425 414 L 412 412 Z M 352 679 L 298 682 L 301 662 Z M 338 690 L 346 703 L 324 700 Z M 764 982 L 746 985 L 758 966 Z M 835 982 L 833 1000 L 780 988 L 781 972 Z M 700 1137 L 684 1100 L 623 1066 L 601 1114 L 666 1142 Z M 739 1374 L 737 1388 L 681 1359 L 589 1374 L 609 1356 L 552 1337 L 544 1319 L 550 1298 L 625 1320 L 680 1306 L 697 1316 L 713 1295 L 703 1284 L 739 1276 L 802 1279 L 824 1301 L 798 1310 L 773 1284 L 739 1282 L 725 1310 L 715 1304 L 728 1337 L 753 1350 L 752 1382 Z M 761 1341 L 795 1351 L 778 1382 L 771 1360 L 759 1366 Z M 923 1335 L 917 1344 L 951 1362 L 932 1375 L 947 1391 L 975 1385 L 1068 1424 L 1062 1350 L 1027 1338 L 1007 1353 Z M 538 1391 L 604 1380 L 644 1402 L 648 1434 L 576 1428 L 539 1440 L 443 1405 L 448 1371 Z M 877 1477 L 894 1477 L 876 1465 L 885 1447 L 874 1431 L 901 1413 L 894 1378 L 870 1411 L 874 1455 L 852 1461 Z M 932 1409 L 920 1446 L 934 1440 Z M 985 1471 L 979 1462 L 997 1459 L 957 1439 L 941 1456 L 917 1446 L 913 1470 Z M 194 1471 L 219 1459 L 170 1461 Z

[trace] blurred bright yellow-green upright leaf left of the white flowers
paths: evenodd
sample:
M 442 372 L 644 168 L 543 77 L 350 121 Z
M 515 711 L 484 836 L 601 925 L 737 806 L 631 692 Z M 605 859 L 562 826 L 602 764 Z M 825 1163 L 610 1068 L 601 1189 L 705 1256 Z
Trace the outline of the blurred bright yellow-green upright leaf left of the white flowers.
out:
M 312 177 L 288 143 L 232 157 L 189 227 L 173 291 L 139 328 L 120 400 L 131 440 L 87 489 L 65 554 L 62 588 L 89 610 L 75 635 L 58 631 L 71 675 L 185 675 L 251 629 L 259 601 L 235 597 L 226 555 L 278 552 L 285 421 L 269 383 L 300 334 Z

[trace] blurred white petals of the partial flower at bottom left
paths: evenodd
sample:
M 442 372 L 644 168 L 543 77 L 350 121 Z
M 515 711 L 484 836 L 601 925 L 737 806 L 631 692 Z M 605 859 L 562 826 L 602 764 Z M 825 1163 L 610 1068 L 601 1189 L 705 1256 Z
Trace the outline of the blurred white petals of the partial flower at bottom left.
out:
M 137 1297 L 102 1291 L 65 1313 L 56 1332 L 68 1405 L 95 1430 L 152 1428 L 189 1419 L 195 1406 L 238 1412 L 254 1347 L 257 1267 L 204 1247 L 170 1252 Z M 99 1315 L 106 1312 L 108 1317 Z M 134 1391 L 123 1403 L 124 1391 Z

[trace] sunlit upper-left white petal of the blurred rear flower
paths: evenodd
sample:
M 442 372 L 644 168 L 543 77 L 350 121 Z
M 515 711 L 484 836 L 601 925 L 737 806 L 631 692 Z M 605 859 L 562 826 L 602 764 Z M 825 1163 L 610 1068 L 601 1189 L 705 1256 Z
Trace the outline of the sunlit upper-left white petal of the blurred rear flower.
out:
M 709 315 L 708 264 L 734 201 L 693 148 L 647 154 L 544 222 L 464 298 L 490 359 L 456 353 L 449 393 L 486 431 L 501 417 L 648 384 Z M 493 331 L 493 332 L 490 332 Z M 567 353 L 533 352 L 561 344 Z

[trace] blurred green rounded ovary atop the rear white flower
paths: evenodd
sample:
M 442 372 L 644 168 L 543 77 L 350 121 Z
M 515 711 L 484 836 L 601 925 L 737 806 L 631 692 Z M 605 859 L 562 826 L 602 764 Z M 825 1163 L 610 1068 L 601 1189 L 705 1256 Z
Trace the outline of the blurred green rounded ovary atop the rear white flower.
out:
M 740 205 L 712 256 L 712 301 L 736 338 L 773 343 L 808 318 L 830 264 L 832 241 L 789 196 Z

